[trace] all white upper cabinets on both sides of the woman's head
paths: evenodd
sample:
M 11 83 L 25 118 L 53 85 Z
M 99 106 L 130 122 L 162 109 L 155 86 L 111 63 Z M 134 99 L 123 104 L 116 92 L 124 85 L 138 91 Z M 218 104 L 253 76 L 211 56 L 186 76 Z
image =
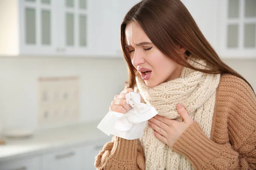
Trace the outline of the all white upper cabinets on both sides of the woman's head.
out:
M 181 1 L 221 58 L 256 58 L 256 0 Z M 138 2 L 0 0 L 0 56 L 122 57 L 120 26 Z

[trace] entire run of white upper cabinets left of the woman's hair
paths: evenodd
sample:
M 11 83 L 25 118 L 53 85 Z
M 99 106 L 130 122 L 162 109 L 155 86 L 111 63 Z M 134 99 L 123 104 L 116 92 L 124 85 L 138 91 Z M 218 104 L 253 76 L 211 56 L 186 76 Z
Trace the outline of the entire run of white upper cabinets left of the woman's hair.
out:
M 122 57 L 120 20 L 134 4 L 0 0 L 0 56 Z

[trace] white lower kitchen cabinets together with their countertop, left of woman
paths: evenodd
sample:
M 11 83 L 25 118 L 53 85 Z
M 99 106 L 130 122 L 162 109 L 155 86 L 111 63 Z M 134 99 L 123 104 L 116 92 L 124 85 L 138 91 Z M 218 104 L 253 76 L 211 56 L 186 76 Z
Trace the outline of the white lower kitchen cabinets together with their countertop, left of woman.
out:
M 0 170 L 95 170 L 95 156 L 112 138 L 98 124 L 90 121 L 40 130 L 32 138 L 5 138 Z

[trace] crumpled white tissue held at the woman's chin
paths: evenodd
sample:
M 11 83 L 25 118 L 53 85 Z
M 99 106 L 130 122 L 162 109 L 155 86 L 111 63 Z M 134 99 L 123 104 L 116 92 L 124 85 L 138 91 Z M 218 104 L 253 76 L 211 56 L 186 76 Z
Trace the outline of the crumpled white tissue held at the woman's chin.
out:
M 108 136 L 138 139 L 143 136 L 146 121 L 157 115 L 157 111 L 153 106 L 141 103 L 138 93 L 130 92 L 125 99 L 132 108 L 125 114 L 109 111 L 97 127 Z

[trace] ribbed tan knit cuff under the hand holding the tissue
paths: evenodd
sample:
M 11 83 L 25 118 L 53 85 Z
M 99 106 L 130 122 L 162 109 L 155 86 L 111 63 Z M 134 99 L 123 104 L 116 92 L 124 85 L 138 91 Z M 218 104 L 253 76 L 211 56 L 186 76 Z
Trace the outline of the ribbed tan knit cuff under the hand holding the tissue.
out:
M 136 162 L 138 139 L 127 140 L 117 136 L 115 138 L 111 157 L 117 161 Z

